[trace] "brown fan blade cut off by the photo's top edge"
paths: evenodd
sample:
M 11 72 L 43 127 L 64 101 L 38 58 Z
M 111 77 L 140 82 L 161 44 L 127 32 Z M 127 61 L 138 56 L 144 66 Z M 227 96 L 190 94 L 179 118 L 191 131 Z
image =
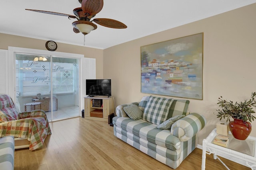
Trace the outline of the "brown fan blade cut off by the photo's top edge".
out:
M 90 16 L 95 16 L 103 8 L 103 0 L 82 0 L 82 10 L 84 13 L 89 13 Z

